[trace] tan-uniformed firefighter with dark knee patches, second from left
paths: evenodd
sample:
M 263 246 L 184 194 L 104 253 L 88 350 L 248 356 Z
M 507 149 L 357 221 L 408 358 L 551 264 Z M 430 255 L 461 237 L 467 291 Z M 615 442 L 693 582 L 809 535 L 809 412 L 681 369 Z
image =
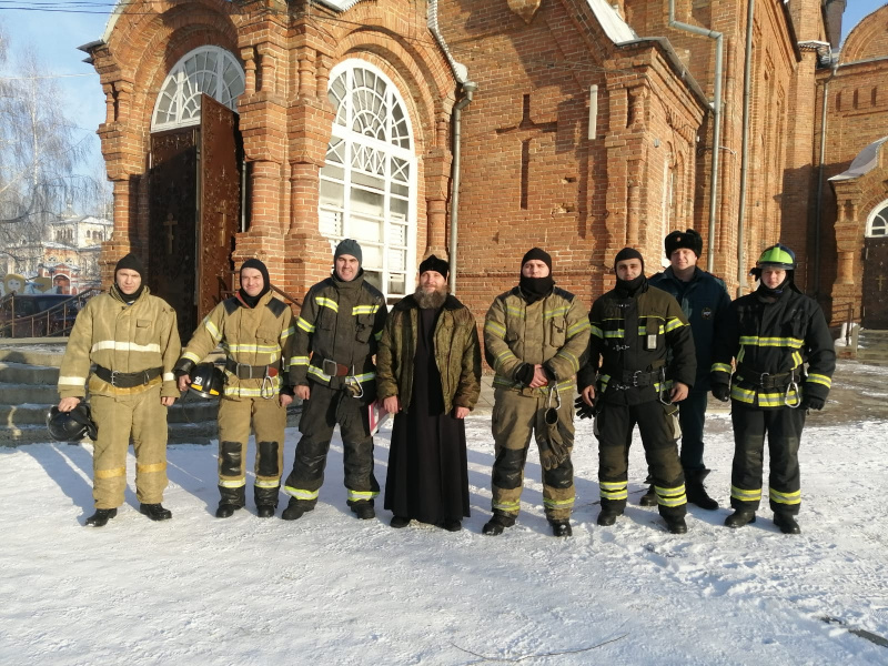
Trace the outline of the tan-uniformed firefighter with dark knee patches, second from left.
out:
M 256 515 L 269 518 L 278 507 L 284 455 L 286 406 L 293 391 L 290 371 L 293 313 L 273 297 L 269 271 L 258 259 L 243 262 L 241 287 L 203 320 L 175 364 L 179 389 L 191 383 L 194 365 L 221 345 L 225 352 L 225 390 L 219 401 L 219 508 L 228 518 L 246 504 L 246 443 L 252 422 L 256 437 Z

